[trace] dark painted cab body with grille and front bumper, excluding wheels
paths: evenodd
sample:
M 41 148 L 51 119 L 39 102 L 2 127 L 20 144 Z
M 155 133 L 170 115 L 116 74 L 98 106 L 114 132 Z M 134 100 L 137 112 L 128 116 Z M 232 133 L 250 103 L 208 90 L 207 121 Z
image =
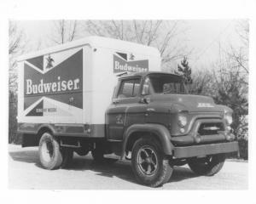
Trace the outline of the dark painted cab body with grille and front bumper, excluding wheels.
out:
M 173 81 L 176 90 L 160 88 Z M 108 140 L 123 141 L 122 158 L 136 132 L 155 132 L 166 155 L 174 158 L 232 152 L 238 146 L 225 115 L 232 115 L 229 107 L 214 104 L 210 97 L 187 94 L 182 77 L 163 72 L 129 74 L 119 78 L 107 111 Z

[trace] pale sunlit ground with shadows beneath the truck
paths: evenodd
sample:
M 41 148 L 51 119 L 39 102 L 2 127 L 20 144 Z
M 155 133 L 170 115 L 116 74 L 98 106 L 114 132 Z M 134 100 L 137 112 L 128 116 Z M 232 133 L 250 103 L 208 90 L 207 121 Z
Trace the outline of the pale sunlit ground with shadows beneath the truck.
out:
M 226 161 L 212 177 L 198 177 L 188 166 L 175 167 L 169 183 L 157 190 L 247 190 L 247 162 Z M 44 170 L 38 148 L 9 145 L 9 188 L 46 190 L 150 190 L 137 184 L 130 161 L 96 164 L 90 155 L 74 156 L 69 169 Z

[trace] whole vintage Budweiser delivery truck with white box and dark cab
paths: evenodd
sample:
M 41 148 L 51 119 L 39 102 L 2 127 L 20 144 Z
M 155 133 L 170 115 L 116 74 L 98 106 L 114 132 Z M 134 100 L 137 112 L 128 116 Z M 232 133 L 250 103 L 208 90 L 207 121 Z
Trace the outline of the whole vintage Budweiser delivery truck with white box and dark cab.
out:
M 186 163 L 218 173 L 238 150 L 232 110 L 161 72 L 156 48 L 87 37 L 20 56 L 18 65 L 18 132 L 23 147 L 39 146 L 46 169 L 67 167 L 73 152 L 102 162 L 115 154 L 156 187 Z

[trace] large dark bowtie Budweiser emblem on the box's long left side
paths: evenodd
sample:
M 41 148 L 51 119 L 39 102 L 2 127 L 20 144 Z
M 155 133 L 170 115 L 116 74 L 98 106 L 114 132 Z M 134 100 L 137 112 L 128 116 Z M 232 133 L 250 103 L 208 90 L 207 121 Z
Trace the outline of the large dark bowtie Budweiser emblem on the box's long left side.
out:
M 43 57 L 43 56 L 42 56 Z M 54 66 L 49 55 L 46 70 L 26 60 L 24 64 L 24 109 L 42 97 L 83 108 L 83 49 Z M 70 102 L 73 98 L 73 102 Z

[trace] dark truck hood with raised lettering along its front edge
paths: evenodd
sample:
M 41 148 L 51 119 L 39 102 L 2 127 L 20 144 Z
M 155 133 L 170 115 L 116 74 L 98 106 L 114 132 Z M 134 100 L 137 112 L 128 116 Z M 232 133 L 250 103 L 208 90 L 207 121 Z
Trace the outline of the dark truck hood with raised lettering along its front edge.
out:
M 172 111 L 189 112 L 223 112 L 231 111 L 224 105 L 216 105 L 211 97 L 191 94 L 158 94 L 151 98 L 152 102 L 162 103 Z

